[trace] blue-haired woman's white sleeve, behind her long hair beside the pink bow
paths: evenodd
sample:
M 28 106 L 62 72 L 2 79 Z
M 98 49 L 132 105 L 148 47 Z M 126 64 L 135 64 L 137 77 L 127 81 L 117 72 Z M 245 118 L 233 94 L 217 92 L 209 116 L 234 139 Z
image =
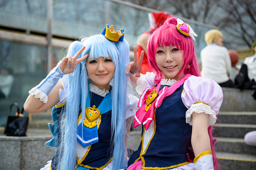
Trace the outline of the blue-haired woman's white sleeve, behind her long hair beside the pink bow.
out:
M 136 113 L 136 110 L 134 109 L 134 107 L 137 107 L 139 102 L 139 99 L 132 95 L 132 94 L 128 94 L 127 98 L 126 98 L 126 109 L 125 109 L 125 119 L 134 116 Z

